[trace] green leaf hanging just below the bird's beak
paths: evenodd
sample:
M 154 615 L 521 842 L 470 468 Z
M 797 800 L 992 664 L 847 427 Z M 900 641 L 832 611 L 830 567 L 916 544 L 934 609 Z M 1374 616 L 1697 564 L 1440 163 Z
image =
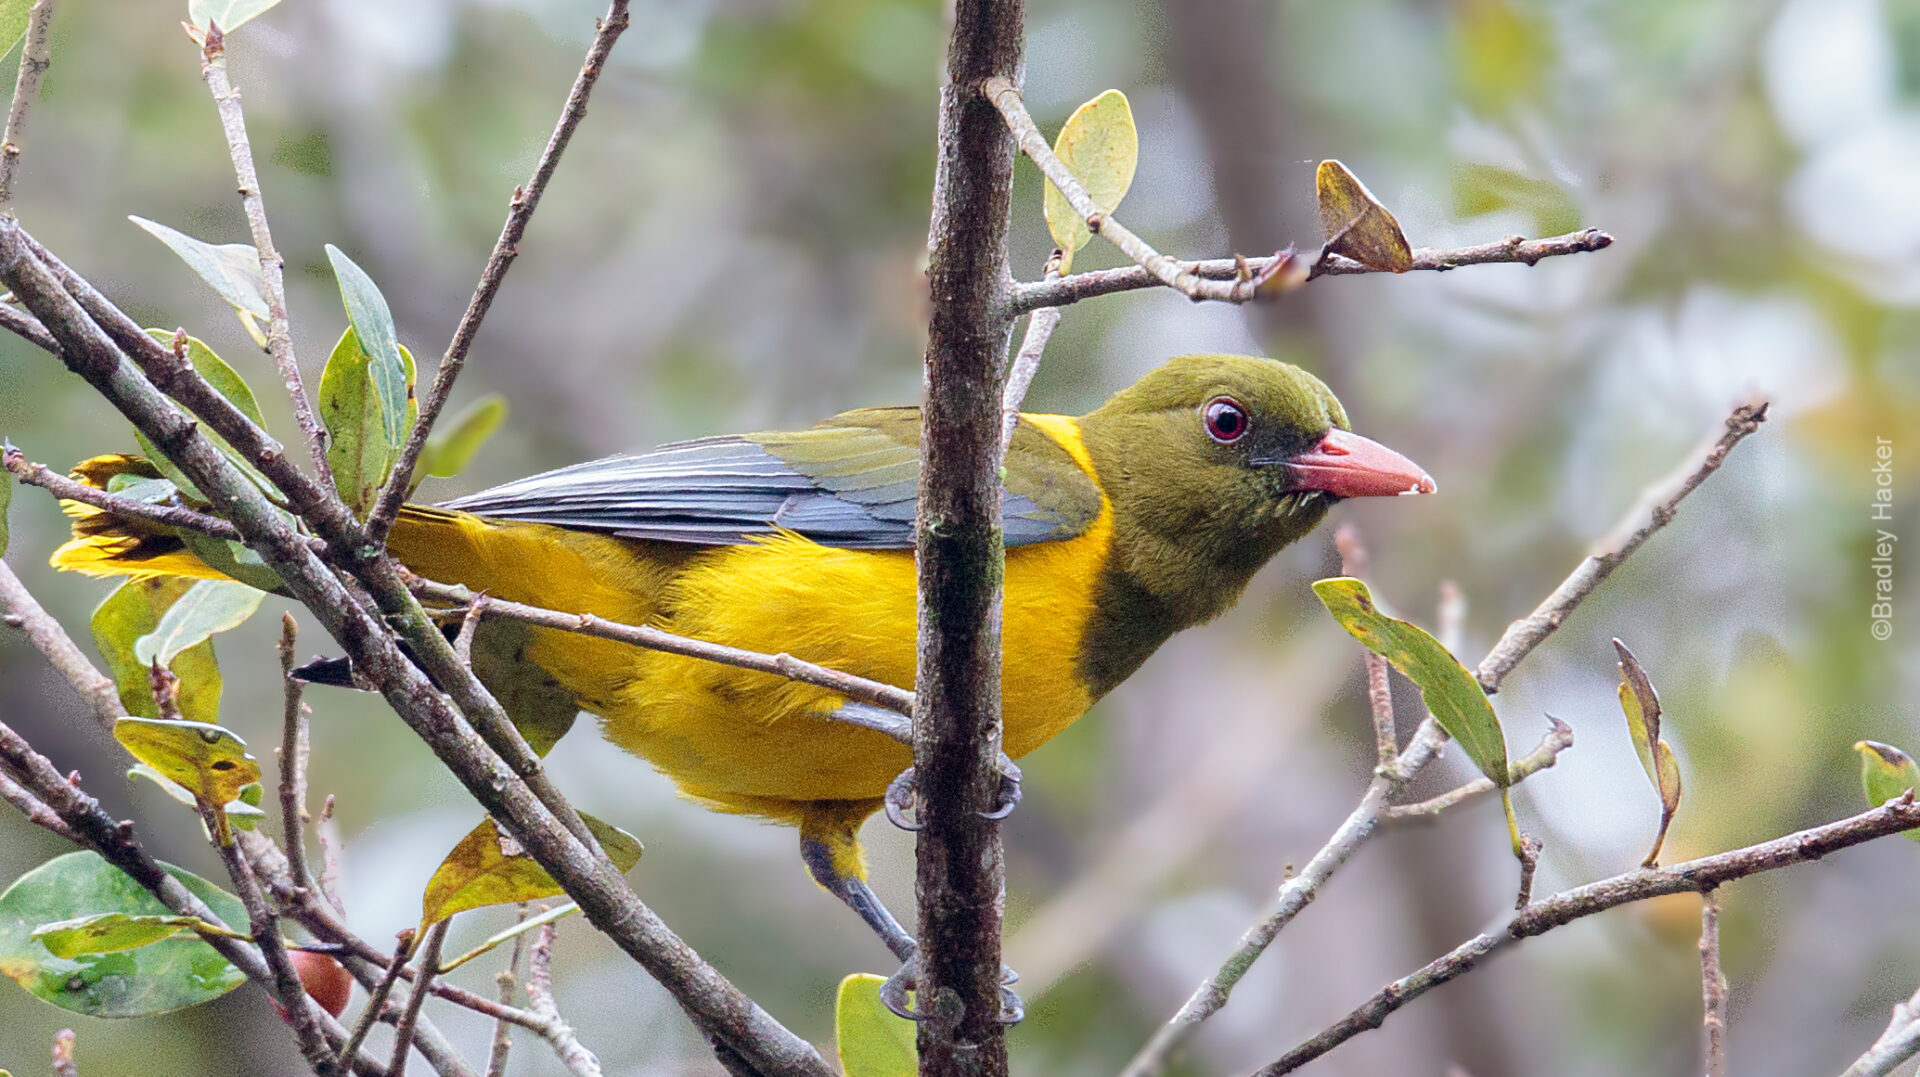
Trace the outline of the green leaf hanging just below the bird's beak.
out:
M 1392 662 L 1421 689 L 1427 710 L 1459 741 L 1480 774 L 1501 789 L 1513 783 L 1507 772 L 1507 739 L 1500 730 L 1500 718 L 1494 716 L 1494 705 L 1486 701 L 1480 682 L 1459 664 L 1459 658 L 1421 628 L 1377 610 L 1373 595 L 1359 580 L 1348 576 L 1319 580 L 1313 584 L 1313 593 L 1327 605 L 1327 612 L 1354 634 L 1354 639 Z

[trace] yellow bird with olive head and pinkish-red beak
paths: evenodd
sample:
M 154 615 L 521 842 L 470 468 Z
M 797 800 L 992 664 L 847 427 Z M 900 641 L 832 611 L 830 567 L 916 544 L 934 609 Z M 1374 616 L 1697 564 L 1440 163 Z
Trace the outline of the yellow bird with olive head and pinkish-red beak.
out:
M 75 476 L 106 488 L 142 465 L 96 457 Z M 1010 758 L 1066 730 L 1175 632 L 1233 607 L 1334 503 L 1434 491 L 1407 457 L 1354 434 L 1325 382 L 1250 355 L 1173 357 L 1089 415 L 1023 413 L 1002 476 Z M 699 438 L 405 505 L 388 551 L 419 576 L 495 599 L 912 689 L 918 478 L 920 409 L 858 409 L 806 430 Z M 225 578 L 163 528 L 67 511 L 77 518 L 58 568 Z M 561 730 L 591 712 L 605 739 L 682 795 L 799 827 L 814 881 L 910 966 L 914 937 L 870 889 L 858 831 L 912 754 L 864 705 L 611 639 L 509 632 L 505 647 L 474 641 L 474 670 L 516 722 L 557 697 Z

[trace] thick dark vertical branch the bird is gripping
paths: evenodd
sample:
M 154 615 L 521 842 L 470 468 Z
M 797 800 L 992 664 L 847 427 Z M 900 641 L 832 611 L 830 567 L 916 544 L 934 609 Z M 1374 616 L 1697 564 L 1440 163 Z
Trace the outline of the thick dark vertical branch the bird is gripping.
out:
M 924 1075 L 1006 1073 L 1000 1017 L 1004 864 L 1000 754 L 998 359 L 1006 346 L 1006 217 L 1014 140 L 981 94 L 1020 67 L 1023 0 L 960 0 L 941 90 L 927 407 L 920 472 L 920 831 Z

